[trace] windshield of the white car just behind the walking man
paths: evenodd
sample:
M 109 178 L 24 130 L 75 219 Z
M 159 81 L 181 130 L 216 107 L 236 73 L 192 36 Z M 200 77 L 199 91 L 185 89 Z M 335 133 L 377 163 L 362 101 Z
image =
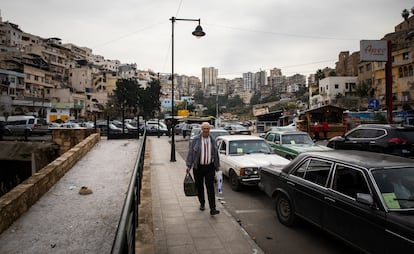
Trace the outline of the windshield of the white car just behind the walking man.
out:
M 230 141 L 229 154 L 242 155 L 250 153 L 271 153 L 269 145 L 264 140 L 235 140 Z

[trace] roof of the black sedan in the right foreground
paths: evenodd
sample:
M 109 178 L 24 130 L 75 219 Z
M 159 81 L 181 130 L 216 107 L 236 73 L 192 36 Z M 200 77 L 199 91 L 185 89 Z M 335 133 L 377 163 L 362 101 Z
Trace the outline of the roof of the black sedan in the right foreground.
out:
M 387 168 L 396 166 L 414 167 L 414 160 L 412 159 L 367 151 L 329 150 L 322 152 L 305 152 L 299 154 L 296 159 L 301 160 L 304 157 L 315 157 L 343 163 L 352 163 L 365 168 Z

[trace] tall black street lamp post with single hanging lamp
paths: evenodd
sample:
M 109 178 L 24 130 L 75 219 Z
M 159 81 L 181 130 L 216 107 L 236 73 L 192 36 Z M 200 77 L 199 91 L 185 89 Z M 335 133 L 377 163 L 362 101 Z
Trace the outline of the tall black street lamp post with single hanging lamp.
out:
M 175 21 L 198 21 L 198 26 L 192 32 L 192 34 L 196 37 L 203 37 L 206 35 L 205 32 L 203 32 L 203 28 L 200 26 L 200 19 L 177 19 L 175 17 L 170 18 L 171 25 L 172 25 L 172 31 L 171 31 L 171 121 L 172 121 L 172 137 L 171 137 L 171 158 L 170 161 L 175 161 L 175 122 L 174 122 L 174 23 Z

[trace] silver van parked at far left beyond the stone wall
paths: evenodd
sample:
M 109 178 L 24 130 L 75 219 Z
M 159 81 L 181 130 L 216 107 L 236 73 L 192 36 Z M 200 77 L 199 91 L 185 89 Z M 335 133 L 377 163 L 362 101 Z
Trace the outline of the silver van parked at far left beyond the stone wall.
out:
M 43 136 L 49 132 L 46 120 L 34 116 L 9 116 L 5 124 L 10 134 L 15 136 Z

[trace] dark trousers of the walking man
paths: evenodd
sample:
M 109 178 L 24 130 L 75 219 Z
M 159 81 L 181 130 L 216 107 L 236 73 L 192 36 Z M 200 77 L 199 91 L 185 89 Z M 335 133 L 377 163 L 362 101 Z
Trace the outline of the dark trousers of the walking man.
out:
M 194 180 L 198 191 L 198 201 L 200 205 L 204 206 L 206 200 L 204 197 L 204 184 L 207 189 L 208 204 L 210 210 L 216 209 L 216 199 L 214 193 L 214 176 L 216 174 L 214 165 L 198 165 L 197 169 L 194 169 Z

